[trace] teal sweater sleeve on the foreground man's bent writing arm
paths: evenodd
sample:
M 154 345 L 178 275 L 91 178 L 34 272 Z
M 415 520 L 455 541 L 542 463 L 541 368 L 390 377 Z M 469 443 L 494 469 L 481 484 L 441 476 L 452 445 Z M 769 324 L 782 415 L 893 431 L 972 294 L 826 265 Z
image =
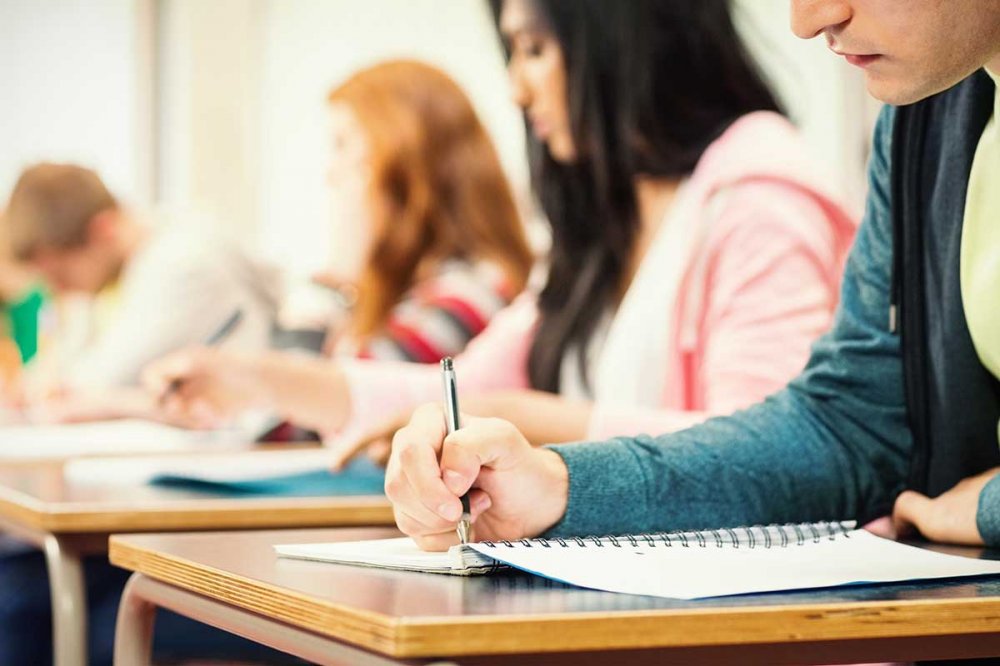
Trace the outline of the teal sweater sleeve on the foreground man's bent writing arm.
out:
M 893 118 L 887 109 L 876 128 L 833 328 L 802 375 L 762 404 L 683 432 L 553 447 L 570 480 L 553 534 L 864 521 L 891 509 L 912 448 L 899 338 L 887 330 Z

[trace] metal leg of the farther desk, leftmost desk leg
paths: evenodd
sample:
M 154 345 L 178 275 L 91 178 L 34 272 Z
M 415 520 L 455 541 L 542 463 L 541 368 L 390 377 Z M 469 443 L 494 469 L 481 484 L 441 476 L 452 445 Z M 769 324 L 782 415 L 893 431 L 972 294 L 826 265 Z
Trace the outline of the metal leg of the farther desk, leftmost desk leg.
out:
M 86 666 L 87 592 L 83 563 L 54 534 L 45 536 L 43 550 L 52 596 L 52 653 L 56 666 Z

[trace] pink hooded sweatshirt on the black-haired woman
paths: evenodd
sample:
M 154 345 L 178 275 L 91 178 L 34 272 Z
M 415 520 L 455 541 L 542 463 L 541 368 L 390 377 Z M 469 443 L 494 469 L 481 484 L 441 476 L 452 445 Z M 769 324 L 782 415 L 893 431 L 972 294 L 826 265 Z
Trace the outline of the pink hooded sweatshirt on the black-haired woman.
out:
M 671 432 L 759 402 L 803 368 L 831 322 L 857 217 L 831 192 L 783 117 L 758 112 L 733 123 L 705 151 L 672 210 L 670 225 L 698 231 L 679 263 L 676 250 L 672 255 L 680 266 L 675 284 L 659 289 L 645 278 L 642 289 L 636 286 L 646 263 L 663 256 L 651 249 L 629 288 L 639 300 L 631 299 L 631 309 L 669 308 L 659 318 L 662 328 L 633 316 L 639 325 L 625 334 L 655 352 L 641 370 L 616 378 L 619 387 L 624 380 L 637 383 L 626 389 L 639 389 L 620 393 L 643 398 L 626 404 L 595 391 L 588 438 Z M 627 294 L 614 317 L 629 301 Z M 455 360 L 463 395 L 530 387 L 537 319 L 531 293 L 494 317 Z M 338 362 L 351 396 L 351 419 L 338 436 L 353 437 L 387 416 L 441 400 L 436 366 Z M 647 384 L 657 387 L 652 395 L 642 392 Z

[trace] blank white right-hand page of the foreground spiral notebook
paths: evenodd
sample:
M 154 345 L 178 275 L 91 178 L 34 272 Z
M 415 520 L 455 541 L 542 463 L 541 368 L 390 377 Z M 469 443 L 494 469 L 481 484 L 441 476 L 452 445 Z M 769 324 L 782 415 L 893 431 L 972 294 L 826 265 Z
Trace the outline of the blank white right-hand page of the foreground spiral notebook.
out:
M 733 548 L 709 543 L 689 547 L 675 543 L 620 548 L 566 546 L 550 542 L 511 546 L 470 544 L 470 547 L 518 569 L 580 587 L 626 594 L 677 599 L 885 583 L 984 574 L 1000 575 L 1000 561 L 944 555 L 863 530 L 847 537 L 807 539 L 786 547 Z

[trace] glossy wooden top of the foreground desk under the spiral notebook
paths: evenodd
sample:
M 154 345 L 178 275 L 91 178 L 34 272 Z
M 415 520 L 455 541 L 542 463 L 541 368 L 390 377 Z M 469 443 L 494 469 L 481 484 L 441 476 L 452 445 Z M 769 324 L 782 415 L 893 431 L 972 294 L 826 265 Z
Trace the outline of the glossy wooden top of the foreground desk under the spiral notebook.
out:
M 918 637 L 930 643 L 917 655 L 932 658 L 973 656 L 962 646 L 977 641 L 975 655 L 992 654 L 983 650 L 1000 644 L 996 579 L 679 601 L 516 573 L 463 578 L 279 559 L 272 548 L 394 534 L 351 528 L 119 535 L 110 557 L 161 582 L 399 658 L 738 644 L 778 645 L 779 655 L 781 645 L 874 639 L 909 641 L 913 652 Z

